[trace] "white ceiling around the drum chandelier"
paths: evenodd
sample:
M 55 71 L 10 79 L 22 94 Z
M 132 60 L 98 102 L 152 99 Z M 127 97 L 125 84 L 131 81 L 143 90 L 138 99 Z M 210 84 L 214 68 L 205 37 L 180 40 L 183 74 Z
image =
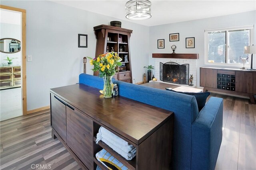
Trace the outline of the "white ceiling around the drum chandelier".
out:
M 128 20 L 124 5 L 128 0 L 51 0 L 82 10 L 127 20 L 146 26 L 224 16 L 256 10 L 256 0 L 150 0 L 152 17 Z

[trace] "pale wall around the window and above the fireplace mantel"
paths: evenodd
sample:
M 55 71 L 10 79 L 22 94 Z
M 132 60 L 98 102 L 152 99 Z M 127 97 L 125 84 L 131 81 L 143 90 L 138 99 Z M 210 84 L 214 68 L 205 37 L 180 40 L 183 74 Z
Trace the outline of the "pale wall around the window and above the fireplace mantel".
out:
M 170 16 L 175 17 L 175 16 Z M 204 64 L 204 30 L 211 28 L 235 27 L 242 25 L 256 26 L 256 11 L 244 12 L 227 16 L 214 18 L 206 18 L 193 21 L 185 21 L 179 23 L 170 23 L 165 25 L 157 25 L 150 27 L 150 53 L 149 64 L 154 65 L 155 60 L 152 53 L 172 53 L 171 46 L 176 45 L 175 53 L 198 53 L 197 61 L 197 87 L 200 85 L 200 67 L 209 66 Z M 169 41 L 170 33 L 180 33 L 180 41 Z M 186 49 L 186 37 L 195 37 L 195 48 Z M 253 44 L 256 40 L 256 28 L 254 28 Z M 157 48 L 157 40 L 164 39 L 165 48 Z M 218 67 L 218 66 L 216 66 Z M 254 68 L 256 67 L 256 59 L 254 59 Z

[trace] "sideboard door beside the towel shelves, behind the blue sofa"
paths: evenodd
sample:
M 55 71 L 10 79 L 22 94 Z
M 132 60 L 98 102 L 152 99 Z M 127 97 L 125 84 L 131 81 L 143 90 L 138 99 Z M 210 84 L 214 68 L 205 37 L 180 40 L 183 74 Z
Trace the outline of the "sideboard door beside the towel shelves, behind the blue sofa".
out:
M 76 156 L 93 169 L 93 121 L 73 106 L 67 107 L 67 145 Z

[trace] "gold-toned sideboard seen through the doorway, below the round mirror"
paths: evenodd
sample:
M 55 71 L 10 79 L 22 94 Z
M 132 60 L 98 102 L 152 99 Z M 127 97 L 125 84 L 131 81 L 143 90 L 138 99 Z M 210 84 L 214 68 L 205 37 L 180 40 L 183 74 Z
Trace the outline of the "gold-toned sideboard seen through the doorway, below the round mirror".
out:
M 21 86 L 20 66 L 0 67 L 0 89 L 14 88 Z

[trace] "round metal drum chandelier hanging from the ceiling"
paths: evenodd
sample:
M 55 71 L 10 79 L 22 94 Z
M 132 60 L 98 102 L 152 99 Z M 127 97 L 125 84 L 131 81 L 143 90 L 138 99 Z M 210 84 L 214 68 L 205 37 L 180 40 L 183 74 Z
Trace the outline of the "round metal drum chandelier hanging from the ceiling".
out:
M 130 0 L 126 2 L 125 17 L 129 20 L 151 18 L 151 2 L 149 0 Z

